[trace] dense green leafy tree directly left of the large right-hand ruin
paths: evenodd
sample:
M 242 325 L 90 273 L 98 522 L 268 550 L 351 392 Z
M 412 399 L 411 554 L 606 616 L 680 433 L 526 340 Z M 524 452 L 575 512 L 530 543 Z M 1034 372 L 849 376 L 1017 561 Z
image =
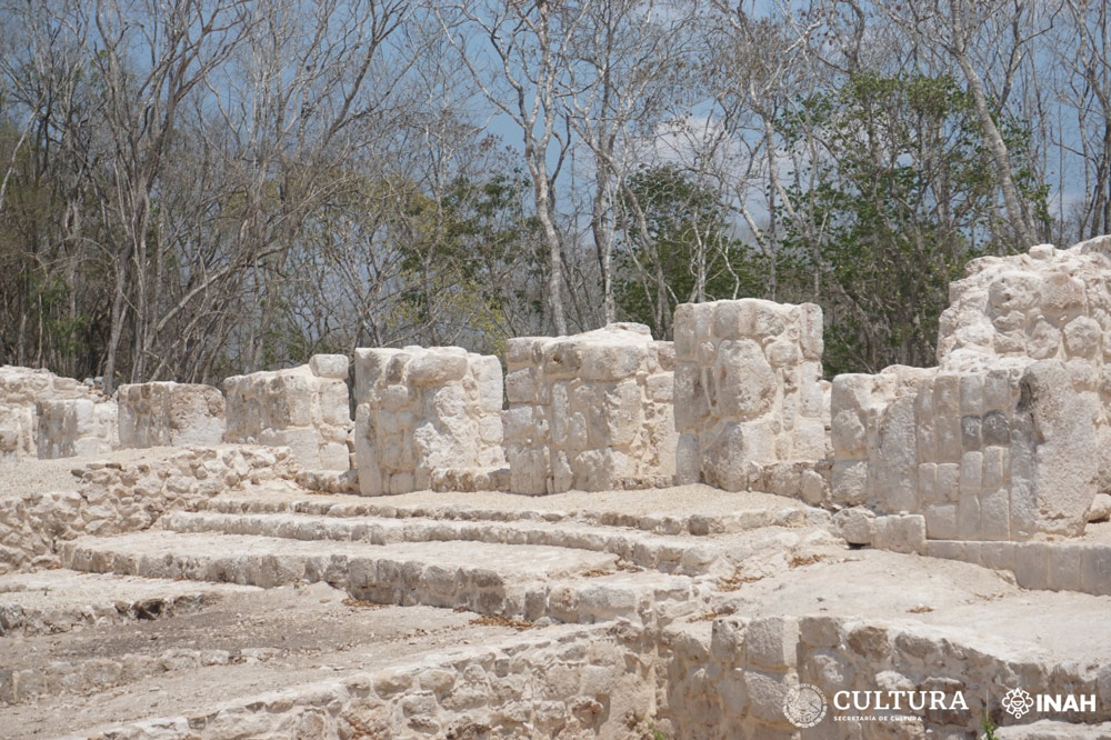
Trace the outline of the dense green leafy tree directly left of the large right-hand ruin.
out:
M 1002 129 L 1023 194 L 1048 218 L 1023 160 L 1028 127 Z M 932 364 L 949 282 L 970 258 L 1010 250 L 992 241 L 999 183 L 971 96 L 949 77 L 857 74 L 780 130 L 789 148 L 812 138 L 821 152 L 790 187 L 813 226 L 780 216 L 785 251 L 827 286 L 827 369 Z

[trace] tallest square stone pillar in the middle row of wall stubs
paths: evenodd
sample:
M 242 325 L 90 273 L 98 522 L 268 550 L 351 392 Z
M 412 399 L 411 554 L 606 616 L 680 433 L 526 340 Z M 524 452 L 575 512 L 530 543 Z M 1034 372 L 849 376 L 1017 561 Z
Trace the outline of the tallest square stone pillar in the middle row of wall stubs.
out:
M 678 483 L 825 494 L 828 383 L 822 311 L 759 299 L 675 309 Z M 802 463 L 802 464 L 797 464 Z

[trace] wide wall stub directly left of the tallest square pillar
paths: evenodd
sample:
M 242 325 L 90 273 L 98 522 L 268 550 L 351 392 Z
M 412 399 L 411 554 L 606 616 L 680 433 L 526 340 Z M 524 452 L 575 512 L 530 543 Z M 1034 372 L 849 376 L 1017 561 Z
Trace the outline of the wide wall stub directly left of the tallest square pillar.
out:
M 610 324 L 506 347 L 510 490 L 544 494 L 671 486 L 674 350 Z

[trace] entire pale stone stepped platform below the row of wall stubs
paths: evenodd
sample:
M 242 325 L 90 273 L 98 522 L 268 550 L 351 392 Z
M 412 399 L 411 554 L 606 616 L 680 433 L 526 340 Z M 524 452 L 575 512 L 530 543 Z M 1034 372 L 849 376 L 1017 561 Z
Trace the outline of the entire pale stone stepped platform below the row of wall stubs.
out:
M 852 550 L 777 497 L 637 496 L 263 486 L 61 540 L 61 569 L 0 578 L 0 736 L 797 738 L 785 688 L 840 680 L 962 687 L 972 713 L 1012 684 L 1094 693 L 1093 717 L 999 737 L 1103 737 L 1111 644 L 1077 634 L 1107 597 Z M 971 740 L 970 721 L 801 737 Z

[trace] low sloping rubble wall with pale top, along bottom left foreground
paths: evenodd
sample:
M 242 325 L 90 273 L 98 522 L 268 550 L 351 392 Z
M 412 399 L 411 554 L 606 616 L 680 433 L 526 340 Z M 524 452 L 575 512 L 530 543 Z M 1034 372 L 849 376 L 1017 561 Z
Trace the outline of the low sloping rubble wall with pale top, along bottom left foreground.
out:
M 239 686 L 240 692 L 216 700 L 211 696 L 190 697 L 189 684 L 171 674 L 159 679 L 162 691 L 153 710 L 102 709 L 98 702 L 79 714 L 77 722 L 71 718 L 62 737 L 643 737 L 631 732 L 627 723 L 651 701 L 653 673 L 627 667 L 641 661 L 647 664 L 651 654 L 645 640 L 633 639 L 627 646 L 614 637 L 614 631 L 627 629 L 556 626 L 500 638 L 489 636 L 478 644 L 457 642 L 437 651 L 394 650 L 389 658 L 368 660 L 354 671 L 338 671 L 331 677 L 290 676 L 277 686 L 277 677 L 263 677 L 263 681 Z M 583 670 L 589 678 L 580 681 L 578 673 Z M 0 734 L 12 737 L 3 734 L 11 724 L 0 712 Z M 34 729 L 42 727 L 49 732 L 60 722 L 40 720 L 34 724 Z M 74 732 L 82 726 L 83 731 Z M 42 734 L 17 731 L 13 740 Z

